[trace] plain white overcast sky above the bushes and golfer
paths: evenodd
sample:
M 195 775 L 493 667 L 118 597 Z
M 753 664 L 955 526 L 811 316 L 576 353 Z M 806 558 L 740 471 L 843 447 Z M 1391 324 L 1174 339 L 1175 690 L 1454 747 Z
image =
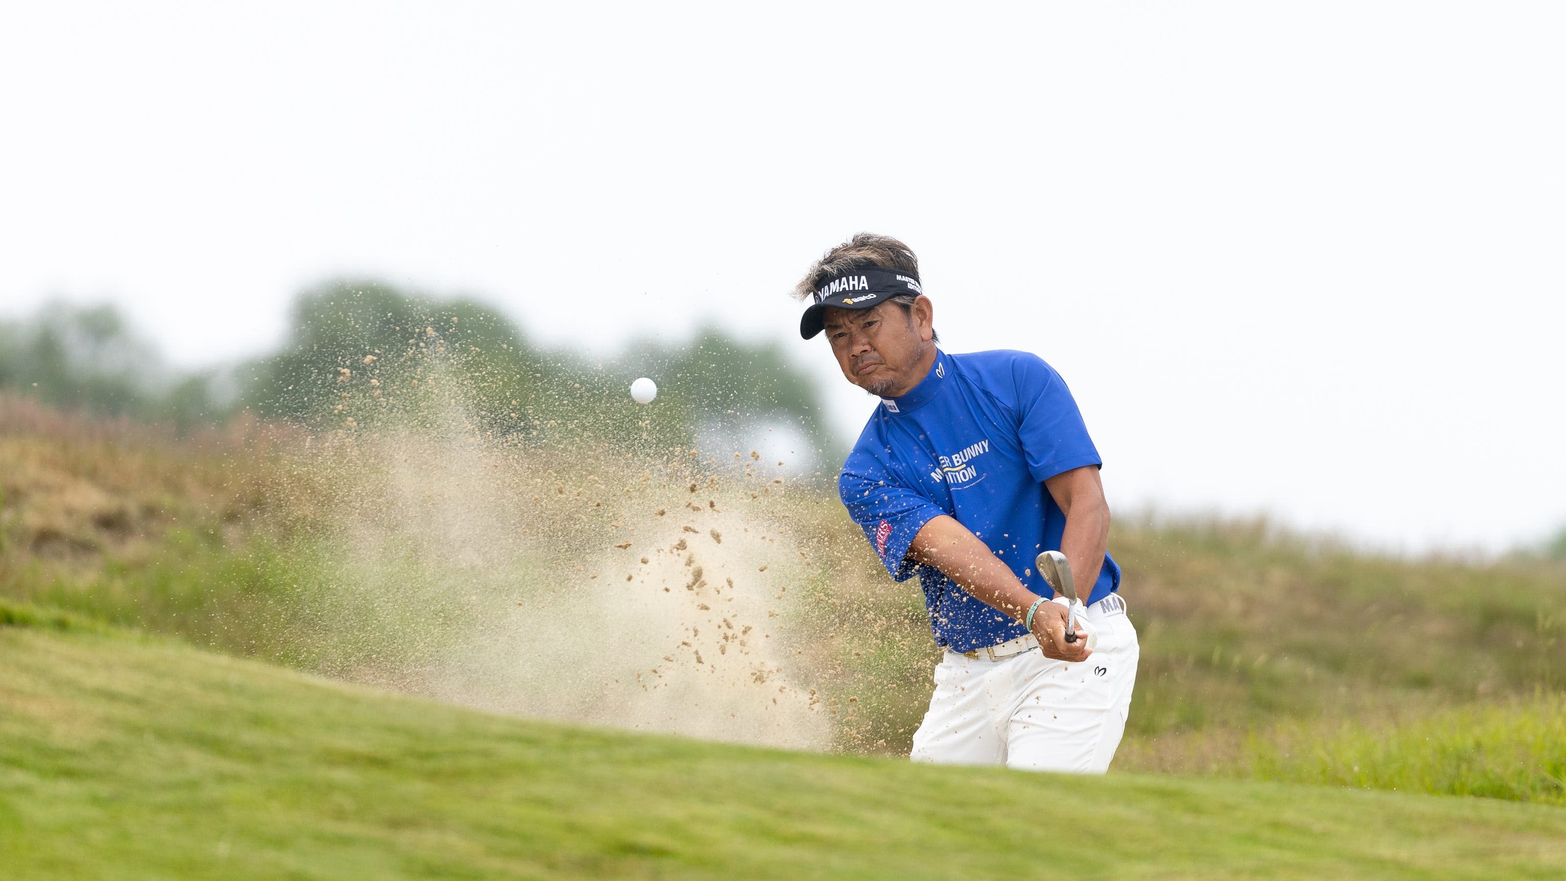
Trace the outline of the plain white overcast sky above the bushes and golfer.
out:
M 474 293 L 612 352 L 857 230 L 954 352 L 1038 352 L 1110 502 L 1386 548 L 1566 523 L 1566 6 L 8 5 L 0 313 L 183 365 L 304 285 Z M 655 377 L 656 379 L 656 377 Z M 661 380 L 667 382 L 667 380 Z

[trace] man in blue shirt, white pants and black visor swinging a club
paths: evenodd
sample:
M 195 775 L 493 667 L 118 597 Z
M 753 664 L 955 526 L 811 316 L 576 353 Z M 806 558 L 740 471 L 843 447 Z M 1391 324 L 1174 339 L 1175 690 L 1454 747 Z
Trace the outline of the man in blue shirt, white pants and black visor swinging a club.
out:
M 843 376 L 880 397 L 838 491 L 891 576 L 919 576 L 946 649 L 913 759 L 1104 773 L 1138 648 L 1071 391 L 1027 352 L 943 352 L 919 261 L 894 238 L 853 236 L 794 293 L 813 300 L 800 335 L 825 332 Z M 1076 642 L 1040 551 L 1062 551 L 1076 573 Z

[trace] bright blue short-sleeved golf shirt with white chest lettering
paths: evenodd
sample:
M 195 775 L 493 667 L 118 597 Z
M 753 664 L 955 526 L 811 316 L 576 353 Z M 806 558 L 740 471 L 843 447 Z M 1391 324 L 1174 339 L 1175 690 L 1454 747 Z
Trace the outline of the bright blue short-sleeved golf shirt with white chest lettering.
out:
M 951 515 L 1029 590 L 1051 596 L 1034 559 L 1060 549 L 1066 516 L 1045 480 L 1084 465 L 1101 465 L 1098 449 L 1065 380 L 1038 355 L 936 351 L 919 385 L 882 399 L 843 463 L 838 493 L 886 571 L 897 581 L 919 574 L 935 642 L 972 651 L 1027 631 L 913 562 L 908 545 L 930 518 Z M 1118 588 L 1120 565 L 1104 554 L 1085 601 Z

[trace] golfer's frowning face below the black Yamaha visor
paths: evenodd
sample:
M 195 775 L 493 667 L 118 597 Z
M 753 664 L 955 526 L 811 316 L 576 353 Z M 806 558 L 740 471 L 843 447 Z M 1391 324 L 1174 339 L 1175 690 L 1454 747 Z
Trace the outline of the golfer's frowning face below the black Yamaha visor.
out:
M 927 297 L 911 307 L 828 308 L 822 327 L 843 376 L 882 397 L 899 397 L 924 379 L 935 361 L 933 313 Z

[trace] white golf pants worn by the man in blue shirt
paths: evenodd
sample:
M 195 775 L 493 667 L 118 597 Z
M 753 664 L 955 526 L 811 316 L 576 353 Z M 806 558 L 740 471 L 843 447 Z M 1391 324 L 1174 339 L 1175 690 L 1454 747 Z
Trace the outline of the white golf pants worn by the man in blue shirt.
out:
M 1081 663 L 1051 660 L 1038 648 L 1001 660 L 947 651 L 913 734 L 913 761 L 1107 771 L 1126 731 L 1140 648 L 1124 604 L 1095 602 L 1087 618 L 1098 648 Z

